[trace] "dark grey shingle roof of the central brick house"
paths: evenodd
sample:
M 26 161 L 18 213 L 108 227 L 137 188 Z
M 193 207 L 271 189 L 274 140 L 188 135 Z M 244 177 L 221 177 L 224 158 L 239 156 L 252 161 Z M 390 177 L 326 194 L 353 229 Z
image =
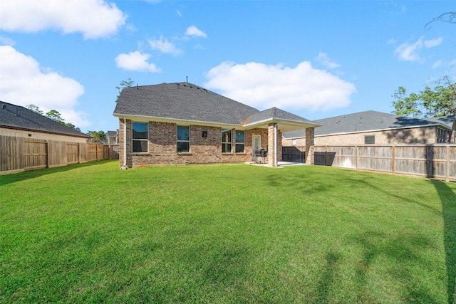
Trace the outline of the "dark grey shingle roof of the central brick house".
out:
M 212 125 L 264 127 L 269 122 L 301 127 L 318 126 L 303 117 L 271 108 L 260 112 L 236 100 L 190 83 L 162 83 L 123 88 L 114 110 L 116 117 L 155 121 L 198 122 Z M 296 127 L 293 128 L 296 130 Z

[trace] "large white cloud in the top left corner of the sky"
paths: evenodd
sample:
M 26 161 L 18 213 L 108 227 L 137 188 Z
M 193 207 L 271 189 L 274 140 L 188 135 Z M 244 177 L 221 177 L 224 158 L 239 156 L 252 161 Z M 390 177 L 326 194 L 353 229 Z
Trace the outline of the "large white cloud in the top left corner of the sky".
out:
M 34 33 L 48 29 L 83 33 L 95 39 L 117 33 L 127 16 L 103 0 L 14 0 L 0 2 L 2 31 Z

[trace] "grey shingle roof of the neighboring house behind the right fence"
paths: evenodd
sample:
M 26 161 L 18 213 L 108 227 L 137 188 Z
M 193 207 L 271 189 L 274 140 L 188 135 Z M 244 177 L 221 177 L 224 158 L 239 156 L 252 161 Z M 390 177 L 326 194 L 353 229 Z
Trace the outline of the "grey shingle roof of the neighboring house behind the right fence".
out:
M 314 122 L 323 125 L 323 127 L 315 129 L 315 136 L 404 129 L 410 127 L 430 127 L 432 125 L 440 125 L 451 129 L 451 121 L 455 121 L 454 115 L 451 117 L 439 117 L 438 119 L 418 119 L 377 111 L 357 112 L 348 115 L 324 118 L 322 120 L 314 120 Z M 297 130 L 285 132 L 283 136 L 285 138 L 306 137 L 306 131 Z

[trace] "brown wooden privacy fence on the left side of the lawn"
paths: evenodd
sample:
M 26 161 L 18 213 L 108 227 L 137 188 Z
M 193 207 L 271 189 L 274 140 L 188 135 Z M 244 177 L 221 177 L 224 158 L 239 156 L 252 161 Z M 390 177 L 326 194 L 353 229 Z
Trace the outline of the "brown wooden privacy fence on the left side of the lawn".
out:
M 0 174 L 118 158 L 118 146 L 0 135 Z

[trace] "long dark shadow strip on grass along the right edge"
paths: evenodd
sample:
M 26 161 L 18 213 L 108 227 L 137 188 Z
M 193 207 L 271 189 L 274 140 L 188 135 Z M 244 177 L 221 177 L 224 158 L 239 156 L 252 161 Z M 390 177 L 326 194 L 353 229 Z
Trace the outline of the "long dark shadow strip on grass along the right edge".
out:
M 456 195 L 445 182 L 432 180 L 442 201 L 448 304 L 456 303 Z

